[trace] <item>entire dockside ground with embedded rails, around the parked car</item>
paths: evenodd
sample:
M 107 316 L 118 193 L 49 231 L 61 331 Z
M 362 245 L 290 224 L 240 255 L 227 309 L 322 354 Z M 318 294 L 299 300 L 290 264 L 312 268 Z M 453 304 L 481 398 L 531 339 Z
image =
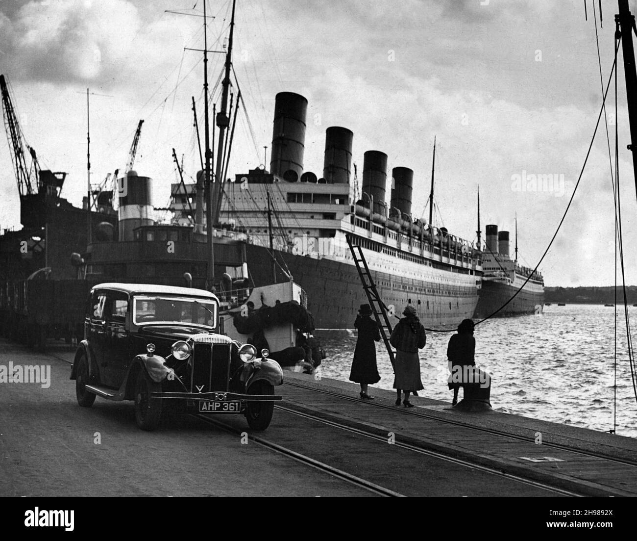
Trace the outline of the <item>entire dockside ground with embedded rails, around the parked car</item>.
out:
M 264 432 L 252 433 L 241 415 L 217 415 L 169 417 L 145 433 L 131 402 L 76 404 L 69 346 L 38 353 L 0 341 L 0 350 L 2 365 L 52 373 L 47 389 L 0 383 L 2 496 L 637 494 L 634 438 L 455 411 L 425 397 L 404 408 L 394 392 L 373 387 L 375 400 L 362 401 L 354 383 L 289 372 Z M 97 493 L 78 468 L 99 479 Z

